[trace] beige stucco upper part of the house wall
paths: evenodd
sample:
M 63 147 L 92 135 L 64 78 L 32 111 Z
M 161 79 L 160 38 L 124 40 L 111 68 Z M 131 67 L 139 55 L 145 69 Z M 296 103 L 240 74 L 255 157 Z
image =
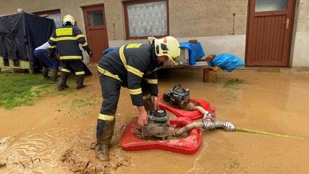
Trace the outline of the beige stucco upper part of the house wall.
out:
M 73 3 L 72 3 L 73 2 Z M 109 40 L 124 40 L 125 25 L 121 0 L 1 0 L 0 15 L 14 14 L 17 8 L 25 12 L 51 9 L 71 14 L 83 30 L 82 6 L 104 4 Z M 246 33 L 247 0 L 168 0 L 169 32 L 174 37 L 221 36 Z M 114 26 L 115 23 L 115 36 Z

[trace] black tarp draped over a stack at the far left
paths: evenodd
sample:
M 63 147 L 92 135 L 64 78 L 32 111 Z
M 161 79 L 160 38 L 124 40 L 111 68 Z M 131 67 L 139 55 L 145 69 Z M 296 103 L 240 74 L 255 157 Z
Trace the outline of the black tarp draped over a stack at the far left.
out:
M 33 51 L 48 41 L 55 28 L 54 20 L 28 13 L 1 16 L 0 56 L 29 60 L 31 66 L 39 67 L 39 60 L 33 56 Z

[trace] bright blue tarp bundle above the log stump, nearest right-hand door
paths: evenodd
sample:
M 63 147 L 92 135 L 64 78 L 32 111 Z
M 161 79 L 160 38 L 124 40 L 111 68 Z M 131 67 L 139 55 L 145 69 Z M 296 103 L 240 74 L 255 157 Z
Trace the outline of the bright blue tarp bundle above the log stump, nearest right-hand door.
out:
M 222 70 L 232 72 L 234 69 L 244 66 L 245 62 L 232 54 L 219 54 L 211 61 L 207 62 L 209 66 L 220 66 Z

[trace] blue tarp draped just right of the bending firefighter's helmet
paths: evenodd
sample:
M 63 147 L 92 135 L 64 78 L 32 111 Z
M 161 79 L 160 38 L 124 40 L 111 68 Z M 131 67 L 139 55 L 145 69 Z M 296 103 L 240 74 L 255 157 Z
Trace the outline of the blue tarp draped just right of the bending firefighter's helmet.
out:
M 205 54 L 202 48 L 202 45 L 200 42 L 197 42 L 195 44 L 184 42 L 180 43 L 181 48 L 187 48 L 189 50 L 189 64 L 195 65 L 195 60 L 202 58 Z

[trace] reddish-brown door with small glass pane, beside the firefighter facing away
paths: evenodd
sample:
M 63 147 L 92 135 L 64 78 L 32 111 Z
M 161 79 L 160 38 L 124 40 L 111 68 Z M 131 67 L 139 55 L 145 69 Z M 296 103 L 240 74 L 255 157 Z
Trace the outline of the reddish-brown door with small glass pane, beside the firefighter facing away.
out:
M 108 48 L 104 5 L 83 7 L 87 41 L 93 53 L 91 63 L 98 63 Z

